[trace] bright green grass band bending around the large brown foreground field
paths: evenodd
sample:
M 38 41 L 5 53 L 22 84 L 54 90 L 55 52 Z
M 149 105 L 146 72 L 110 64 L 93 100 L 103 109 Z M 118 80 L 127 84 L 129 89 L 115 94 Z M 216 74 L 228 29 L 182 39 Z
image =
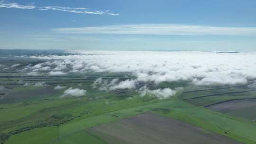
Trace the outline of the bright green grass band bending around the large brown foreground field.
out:
M 159 108 L 160 110 L 157 110 Z M 169 110 L 168 112 L 166 112 L 166 110 L 163 109 Z M 67 139 L 67 137 L 69 136 L 70 138 L 72 138 L 74 133 L 83 131 L 84 129 L 90 128 L 92 126 L 98 126 L 100 124 L 119 120 L 125 117 L 131 117 L 146 111 L 153 111 L 156 113 L 160 113 L 166 117 L 173 117 L 175 119 L 190 123 L 194 126 L 199 126 L 215 133 L 226 135 L 232 139 L 247 144 L 254 144 L 256 142 L 256 138 L 254 135 L 256 133 L 255 123 L 241 121 L 234 117 L 229 117 L 224 114 L 186 104 L 183 101 L 177 99 L 172 99 L 165 102 L 157 102 L 145 106 L 127 108 L 99 114 L 88 118 L 86 118 L 86 116 L 79 117 L 78 119 L 75 119 L 60 126 L 36 128 L 29 132 L 23 132 L 11 136 L 7 140 L 6 144 L 15 144 L 20 141 L 20 137 L 22 137 L 24 142 L 22 142 L 21 144 L 32 144 L 35 142 L 39 142 L 39 144 L 49 144 L 52 141 L 59 141 L 62 138 Z M 246 129 L 246 131 L 244 131 L 243 129 Z M 43 131 L 56 130 L 58 130 L 57 135 L 52 135 L 52 138 L 48 140 L 44 138 L 48 135 L 48 133 L 44 133 Z M 31 135 L 35 135 L 35 133 L 40 132 L 42 133 L 40 134 L 40 136 L 37 136 L 37 138 L 29 138 Z

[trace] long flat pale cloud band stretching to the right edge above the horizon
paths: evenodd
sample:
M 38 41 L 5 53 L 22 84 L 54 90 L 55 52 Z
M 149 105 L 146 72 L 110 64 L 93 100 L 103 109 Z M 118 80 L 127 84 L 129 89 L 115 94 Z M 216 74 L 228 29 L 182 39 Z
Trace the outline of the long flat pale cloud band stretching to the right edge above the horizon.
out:
M 137 24 L 101 27 L 55 28 L 55 32 L 70 34 L 133 34 L 133 35 L 256 35 L 256 27 L 213 27 L 179 24 Z

